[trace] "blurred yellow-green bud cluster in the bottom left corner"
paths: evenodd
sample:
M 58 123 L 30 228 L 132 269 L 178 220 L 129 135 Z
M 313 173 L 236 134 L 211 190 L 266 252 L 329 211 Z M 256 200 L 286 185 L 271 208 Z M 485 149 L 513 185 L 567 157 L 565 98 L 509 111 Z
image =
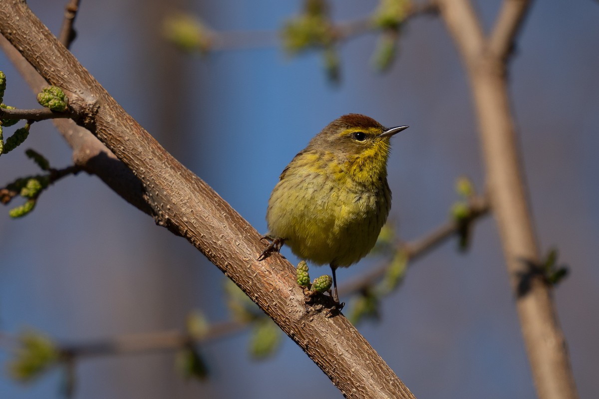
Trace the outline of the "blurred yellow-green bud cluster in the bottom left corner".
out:
M 19 382 L 29 382 L 55 366 L 58 360 L 59 350 L 49 337 L 28 331 L 19 336 L 19 348 L 8 363 L 8 372 Z

